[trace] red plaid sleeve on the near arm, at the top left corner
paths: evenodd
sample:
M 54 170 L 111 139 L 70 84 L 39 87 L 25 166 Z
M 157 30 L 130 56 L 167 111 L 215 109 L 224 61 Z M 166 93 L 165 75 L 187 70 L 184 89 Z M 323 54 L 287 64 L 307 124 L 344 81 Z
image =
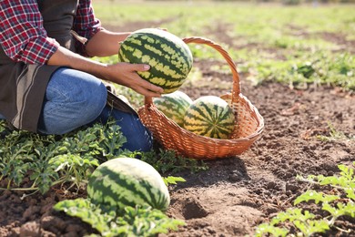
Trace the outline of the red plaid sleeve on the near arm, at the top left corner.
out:
M 59 46 L 46 35 L 35 0 L 0 1 L 0 46 L 14 61 L 46 64 Z

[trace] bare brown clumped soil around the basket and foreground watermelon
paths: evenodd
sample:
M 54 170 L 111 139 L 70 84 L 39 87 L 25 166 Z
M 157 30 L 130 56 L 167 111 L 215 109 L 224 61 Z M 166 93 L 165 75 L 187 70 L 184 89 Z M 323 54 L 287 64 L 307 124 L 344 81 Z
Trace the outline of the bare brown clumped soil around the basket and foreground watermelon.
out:
M 230 83 L 231 76 L 213 72 L 211 64 L 223 62 L 196 62 L 208 83 L 184 88 L 192 98 L 227 91 L 218 86 Z M 291 207 L 309 188 L 309 183 L 296 180 L 296 175 L 334 175 L 340 163 L 350 165 L 355 160 L 354 140 L 317 138 L 330 136 L 330 124 L 348 138 L 354 135 L 354 94 L 333 87 L 296 90 L 271 82 L 255 88 L 245 75 L 240 76 L 242 94 L 265 119 L 263 135 L 237 157 L 206 161 L 209 170 L 175 174 L 187 181 L 170 186 L 167 214 L 187 225 L 161 236 L 252 236 L 259 223 Z M 0 192 L 0 236 L 83 236 L 94 232 L 85 222 L 52 210 L 58 201 L 85 197 L 85 191 L 75 194 L 52 189 L 24 200 L 22 195 Z M 355 230 L 354 219 L 340 218 L 336 225 Z M 327 236 L 355 233 L 333 229 Z

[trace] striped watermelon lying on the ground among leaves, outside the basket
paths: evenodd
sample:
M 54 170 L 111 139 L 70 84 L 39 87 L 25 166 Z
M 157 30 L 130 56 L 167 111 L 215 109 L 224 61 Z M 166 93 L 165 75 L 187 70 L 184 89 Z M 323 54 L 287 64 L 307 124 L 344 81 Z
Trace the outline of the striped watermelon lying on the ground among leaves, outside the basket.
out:
M 165 211 L 170 203 L 167 186 L 151 165 L 133 158 L 116 158 L 94 170 L 87 184 L 93 203 L 135 207 L 147 203 Z

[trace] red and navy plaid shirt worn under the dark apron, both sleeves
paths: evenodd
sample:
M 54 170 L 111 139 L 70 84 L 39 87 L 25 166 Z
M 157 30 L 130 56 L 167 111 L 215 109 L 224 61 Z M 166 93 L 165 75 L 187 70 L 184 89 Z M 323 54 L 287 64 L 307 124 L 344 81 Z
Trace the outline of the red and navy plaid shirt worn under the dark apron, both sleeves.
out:
M 100 29 L 91 0 L 79 0 L 73 30 L 89 39 Z M 1 0 L 0 46 L 15 62 L 44 65 L 59 44 L 47 36 L 36 0 Z

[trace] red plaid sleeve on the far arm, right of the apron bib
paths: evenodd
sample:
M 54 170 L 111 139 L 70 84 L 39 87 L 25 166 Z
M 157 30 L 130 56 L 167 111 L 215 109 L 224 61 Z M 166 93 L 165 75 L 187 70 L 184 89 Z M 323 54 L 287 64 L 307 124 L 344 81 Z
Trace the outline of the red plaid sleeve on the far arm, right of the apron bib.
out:
M 89 40 L 101 29 L 103 29 L 101 22 L 95 17 L 91 0 L 80 0 L 76 11 L 73 30 L 76 31 L 79 36 L 86 37 L 86 39 Z M 78 53 L 87 56 L 84 45 L 79 43 L 76 46 Z

